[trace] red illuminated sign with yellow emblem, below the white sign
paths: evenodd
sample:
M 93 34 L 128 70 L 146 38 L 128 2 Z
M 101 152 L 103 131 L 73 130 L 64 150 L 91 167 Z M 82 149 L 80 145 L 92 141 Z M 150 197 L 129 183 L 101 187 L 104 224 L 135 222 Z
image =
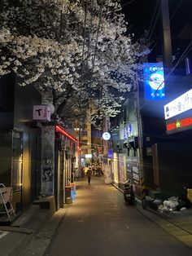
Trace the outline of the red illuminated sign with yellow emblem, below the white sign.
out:
M 181 120 L 177 119 L 177 121 L 167 123 L 167 125 L 166 125 L 167 131 L 188 130 L 191 127 L 192 127 L 192 117 L 183 118 Z

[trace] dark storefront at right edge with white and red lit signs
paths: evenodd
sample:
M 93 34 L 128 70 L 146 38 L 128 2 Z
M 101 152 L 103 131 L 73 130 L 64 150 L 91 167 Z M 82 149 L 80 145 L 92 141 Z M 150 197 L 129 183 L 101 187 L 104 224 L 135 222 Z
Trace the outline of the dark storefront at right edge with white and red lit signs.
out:
M 192 90 L 164 105 L 166 133 L 171 140 L 153 145 L 155 187 L 178 196 L 191 188 Z

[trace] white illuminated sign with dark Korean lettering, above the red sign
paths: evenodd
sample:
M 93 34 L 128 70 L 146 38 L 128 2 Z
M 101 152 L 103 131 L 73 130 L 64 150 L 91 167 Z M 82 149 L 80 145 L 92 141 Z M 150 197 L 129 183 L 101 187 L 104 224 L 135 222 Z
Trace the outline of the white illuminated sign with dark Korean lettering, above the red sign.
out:
M 179 96 L 177 99 L 173 99 L 168 104 L 164 105 L 164 117 L 165 120 L 171 117 L 175 117 L 180 113 L 183 113 L 192 108 L 192 89 L 185 92 L 185 94 Z

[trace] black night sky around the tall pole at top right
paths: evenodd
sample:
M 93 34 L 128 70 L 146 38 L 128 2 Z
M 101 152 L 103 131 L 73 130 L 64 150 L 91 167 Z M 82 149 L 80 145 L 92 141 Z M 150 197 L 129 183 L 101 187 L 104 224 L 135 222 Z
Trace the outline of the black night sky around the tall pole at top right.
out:
M 181 55 L 192 40 L 192 0 L 169 0 L 169 17 L 172 35 L 172 55 Z M 152 54 L 162 55 L 162 21 L 160 0 L 121 0 L 128 33 L 141 38 L 145 30 L 151 42 Z M 190 24 L 191 29 L 185 30 Z M 187 38 L 189 37 L 189 38 Z M 185 39 L 185 40 L 184 40 Z

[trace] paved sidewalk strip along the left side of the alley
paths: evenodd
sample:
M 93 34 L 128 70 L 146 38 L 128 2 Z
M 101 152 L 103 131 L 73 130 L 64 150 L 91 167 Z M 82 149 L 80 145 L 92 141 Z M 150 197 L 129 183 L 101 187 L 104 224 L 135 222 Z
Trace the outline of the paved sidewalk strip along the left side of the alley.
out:
M 50 210 L 31 205 L 11 226 L 0 227 L 0 256 L 43 255 L 67 208 L 50 216 Z

